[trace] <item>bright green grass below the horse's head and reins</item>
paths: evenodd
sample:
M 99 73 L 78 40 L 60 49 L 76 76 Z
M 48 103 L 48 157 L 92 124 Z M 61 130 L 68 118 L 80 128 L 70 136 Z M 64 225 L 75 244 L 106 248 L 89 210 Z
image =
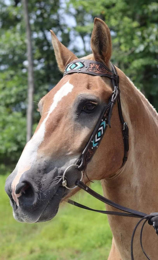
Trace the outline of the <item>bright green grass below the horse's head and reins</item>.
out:
M 106 260 L 111 231 L 106 215 L 70 204 L 60 206 L 57 216 L 38 224 L 18 223 L 4 192 L 7 176 L 0 176 L 0 260 Z M 92 185 L 100 194 L 101 185 Z M 104 204 L 83 192 L 76 201 L 96 209 Z

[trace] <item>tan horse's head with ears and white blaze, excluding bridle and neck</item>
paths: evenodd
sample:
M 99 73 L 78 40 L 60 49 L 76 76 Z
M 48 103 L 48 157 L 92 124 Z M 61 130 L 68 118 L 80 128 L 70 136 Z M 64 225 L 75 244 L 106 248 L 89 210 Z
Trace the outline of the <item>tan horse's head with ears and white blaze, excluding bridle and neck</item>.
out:
M 78 58 L 51 31 L 58 67 Z M 84 60 L 102 62 L 111 70 L 111 36 L 108 26 L 95 18 L 91 37 L 92 54 Z M 52 68 L 53 69 L 53 68 Z M 121 73 L 121 83 L 126 76 Z M 14 171 L 6 181 L 6 192 L 19 222 L 41 222 L 52 219 L 60 201 L 79 188 L 68 190 L 61 179 L 68 166 L 75 165 L 113 92 L 111 79 L 84 74 L 65 75 L 39 102 L 41 119 L 26 144 Z M 95 156 L 87 165 L 85 183 L 113 176 L 122 165 L 124 144 L 117 105 L 113 109 L 112 127 L 107 129 Z M 81 172 L 71 167 L 66 172 L 73 187 Z

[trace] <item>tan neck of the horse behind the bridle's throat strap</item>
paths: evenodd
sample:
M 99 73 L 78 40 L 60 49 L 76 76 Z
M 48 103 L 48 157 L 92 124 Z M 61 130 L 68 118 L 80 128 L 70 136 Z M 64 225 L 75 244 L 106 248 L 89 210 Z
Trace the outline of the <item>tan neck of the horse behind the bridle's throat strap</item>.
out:
M 129 127 L 129 156 L 116 177 L 102 180 L 102 187 L 104 196 L 112 201 L 150 214 L 158 211 L 158 114 L 133 84 L 127 87 L 122 89 L 121 100 Z M 110 206 L 106 208 L 114 210 Z M 108 219 L 122 259 L 130 259 L 130 239 L 138 219 L 116 216 Z M 136 236 L 139 239 L 139 234 Z M 126 241 L 123 244 L 122 237 Z M 135 250 L 140 255 L 138 241 L 137 244 Z M 152 247 L 150 241 L 148 247 Z

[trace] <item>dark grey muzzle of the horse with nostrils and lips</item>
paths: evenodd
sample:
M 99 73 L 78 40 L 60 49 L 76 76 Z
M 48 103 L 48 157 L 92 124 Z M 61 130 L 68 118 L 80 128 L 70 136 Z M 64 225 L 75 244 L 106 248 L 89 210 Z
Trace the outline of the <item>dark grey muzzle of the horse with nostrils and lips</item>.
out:
M 34 223 L 47 221 L 58 212 L 65 188 L 60 184 L 62 177 L 58 169 L 44 174 L 40 179 L 35 174 L 25 172 L 17 183 L 15 190 L 12 181 L 16 174 L 13 172 L 6 180 L 5 190 L 13 207 L 14 218 L 19 222 Z

